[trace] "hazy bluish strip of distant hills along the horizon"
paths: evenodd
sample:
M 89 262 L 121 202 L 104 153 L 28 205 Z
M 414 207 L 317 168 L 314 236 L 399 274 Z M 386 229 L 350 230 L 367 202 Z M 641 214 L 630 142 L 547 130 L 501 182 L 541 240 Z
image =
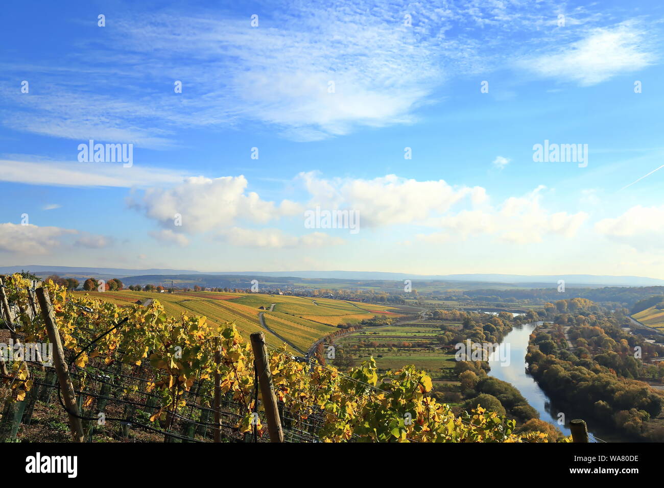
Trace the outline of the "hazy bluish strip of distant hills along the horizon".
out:
M 208 276 L 225 276 L 220 280 L 230 282 L 240 280 L 238 277 L 250 282 L 260 277 L 270 277 L 274 280 L 260 280 L 268 282 L 288 282 L 297 278 L 306 278 L 309 280 L 384 280 L 400 281 L 403 280 L 436 280 L 443 282 L 458 282 L 459 286 L 463 283 L 489 283 L 489 284 L 517 284 L 521 287 L 533 286 L 551 286 L 557 284 L 558 280 L 564 280 L 565 285 L 576 286 L 652 286 L 664 285 L 664 280 L 657 278 L 647 278 L 643 276 L 596 276 L 589 274 L 560 274 L 560 275 L 520 275 L 520 274 L 449 274 L 449 275 L 420 275 L 407 273 L 373 272 L 373 271 L 283 271 L 283 272 L 200 272 L 195 270 L 170 270 L 170 269 L 149 269 L 132 270 L 129 268 L 85 268 L 74 266 L 44 266 L 29 264 L 25 266 L 0 266 L 0 274 L 8 274 L 21 270 L 30 270 L 39 276 L 48 276 L 48 274 L 59 274 L 60 276 L 81 278 L 94 276 L 95 278 L 127 278 L 144 276 L 161 276 L 163 280 L 182 279 L 183 276 L 193 277 L 200 281 L 201 278 Z M 173 277 L 180 278 L 173 278 Z M 155 278 L 157 279 L 157 278 Z M 208 278 L 205 278 L 207 280 Z M 216 285 L 219 286 L 219 285 Z

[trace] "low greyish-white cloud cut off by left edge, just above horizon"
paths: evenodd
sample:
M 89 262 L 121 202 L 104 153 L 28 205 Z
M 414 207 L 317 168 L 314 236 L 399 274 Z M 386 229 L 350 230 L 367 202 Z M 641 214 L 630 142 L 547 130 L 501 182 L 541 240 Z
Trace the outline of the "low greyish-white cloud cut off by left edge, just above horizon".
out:
M 60 227 L 39 227 L 7 222 L 0 224 L 0 251 L 17 254 L 48 254 L 60 245 L 61 236 L 76 234 L 76 230 Z

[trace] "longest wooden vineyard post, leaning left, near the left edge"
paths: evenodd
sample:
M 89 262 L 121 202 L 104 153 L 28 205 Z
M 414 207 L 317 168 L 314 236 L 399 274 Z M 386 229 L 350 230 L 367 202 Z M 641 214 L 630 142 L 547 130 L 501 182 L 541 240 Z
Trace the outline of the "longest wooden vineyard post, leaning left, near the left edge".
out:
M 64 401 L 64 406 L 66 407 L 69 416 L 69 426 L 72 430 L 72 437 L 74 438 L 74 442 L 85 442 L 83 425 L 80 418 L 78 418 L 79 414 L 78 405 L 76 404 L 76 393 L 74 392 L 72 380 L 69 377 L 69 368 L 64 360 L 64 350 L 62 349 L 60 332 L 55 323 L 55 315 L 50 304 L 50 298 L 48 297 L 48 290 L 42 286 L 37 288 L 36 291 L 39 307 L 41 307 L 44 324 L 46 325 L 46 333 L 48 333 L 48 340 L 53 345 L 53 366 L 58 375 L 62 400 Z

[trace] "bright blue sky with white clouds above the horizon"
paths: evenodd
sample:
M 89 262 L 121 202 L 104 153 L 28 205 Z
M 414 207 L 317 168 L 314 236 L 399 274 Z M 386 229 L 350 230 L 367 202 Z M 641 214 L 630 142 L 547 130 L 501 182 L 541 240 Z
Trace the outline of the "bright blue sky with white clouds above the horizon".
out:
M 237 4 L 3 5 L 0 265 L 664 278 L 661 2 Z

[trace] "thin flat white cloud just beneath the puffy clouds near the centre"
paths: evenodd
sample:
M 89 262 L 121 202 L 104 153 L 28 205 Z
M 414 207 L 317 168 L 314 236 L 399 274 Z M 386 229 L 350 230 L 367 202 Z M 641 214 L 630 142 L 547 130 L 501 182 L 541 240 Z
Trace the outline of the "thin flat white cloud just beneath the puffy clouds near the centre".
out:
M 338 246 L 345 242 L 342 238 L 329 236 L 325 232 L 291 236 L 276 228 L 254 230 L 233 227 L 220 232 L 218 236 L 233 246 L 257 248 L 321 248 Z

